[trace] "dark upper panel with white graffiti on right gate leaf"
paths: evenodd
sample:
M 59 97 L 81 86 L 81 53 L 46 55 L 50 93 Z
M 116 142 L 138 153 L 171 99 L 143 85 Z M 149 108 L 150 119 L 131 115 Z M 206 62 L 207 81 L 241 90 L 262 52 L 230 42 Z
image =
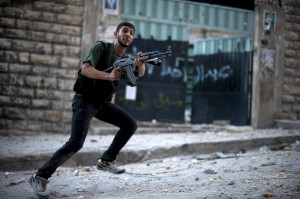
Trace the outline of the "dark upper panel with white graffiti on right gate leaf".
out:
M 195 92 L 240 92 L 251 54 L 228 52 L 195 56 Z

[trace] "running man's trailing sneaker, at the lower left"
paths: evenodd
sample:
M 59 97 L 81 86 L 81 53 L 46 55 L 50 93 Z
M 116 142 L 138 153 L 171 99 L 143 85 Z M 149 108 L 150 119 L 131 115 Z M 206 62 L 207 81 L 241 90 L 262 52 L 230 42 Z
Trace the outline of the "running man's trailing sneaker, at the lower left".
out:
M 33 188 L 35 195 L 39 198 L 48 198 L 49 192 L 47 191 L 47 184 L 49 180 L 33 174 L 28 180 L 30 186 Z

